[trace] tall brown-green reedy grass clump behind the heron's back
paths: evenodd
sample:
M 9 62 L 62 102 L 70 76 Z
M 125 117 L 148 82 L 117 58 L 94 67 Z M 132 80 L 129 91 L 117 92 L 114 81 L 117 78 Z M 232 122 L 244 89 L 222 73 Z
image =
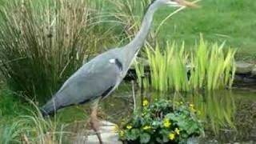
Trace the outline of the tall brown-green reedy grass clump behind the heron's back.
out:
M 58 90 L 110 38 L 109 31 L 96 33 L 94 7 L 84 0 L 6 2 L 0 9 L 0 71 L 8 86 L 39 101 Z

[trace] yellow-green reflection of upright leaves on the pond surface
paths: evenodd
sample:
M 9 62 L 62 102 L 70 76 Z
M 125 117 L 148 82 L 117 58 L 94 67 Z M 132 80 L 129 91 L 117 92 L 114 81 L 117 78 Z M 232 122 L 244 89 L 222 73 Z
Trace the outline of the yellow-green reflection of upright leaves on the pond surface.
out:
M 218 134 L 219 130 L 235 130 L 234 115 L 236 106 L 232 91 L 222 90 L 210 93 L 195 94 L 158 94 L 153 93 L 153 98 L 168 98 L 173 102 L 190 102 L 194 104 L 198 117 L 207 123 L 207 129 Z M 152 99 L 152 98 L 150 98 Z

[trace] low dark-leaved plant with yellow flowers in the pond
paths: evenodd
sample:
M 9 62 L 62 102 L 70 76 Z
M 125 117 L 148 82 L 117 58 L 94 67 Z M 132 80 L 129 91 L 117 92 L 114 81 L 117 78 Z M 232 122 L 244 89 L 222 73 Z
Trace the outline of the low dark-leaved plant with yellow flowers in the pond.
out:
M 202 122 L 196 118 L 194 105 L 156 100 L 151 105 L 144 100 L 143 110 L 134 114 L 118 130 L 125 143 L 183 143 L 203 134 Z

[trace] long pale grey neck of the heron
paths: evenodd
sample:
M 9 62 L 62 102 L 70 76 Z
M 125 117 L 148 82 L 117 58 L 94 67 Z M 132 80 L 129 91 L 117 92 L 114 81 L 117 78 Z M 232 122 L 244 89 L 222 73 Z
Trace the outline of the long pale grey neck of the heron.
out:
M 143 46 L 146 41 L 147 35 L 150 32 L 150 27 L 153 22 L 154 12 L 158 10 L 158 6 L 152 4 L 149 9 L 146 11 L 146 14 L 142 21 L 141 29 L 138 31 L 138 34 L 135 35 L 134 39 L 125 47 L 129 54 L 134 55 L 138 50 Z

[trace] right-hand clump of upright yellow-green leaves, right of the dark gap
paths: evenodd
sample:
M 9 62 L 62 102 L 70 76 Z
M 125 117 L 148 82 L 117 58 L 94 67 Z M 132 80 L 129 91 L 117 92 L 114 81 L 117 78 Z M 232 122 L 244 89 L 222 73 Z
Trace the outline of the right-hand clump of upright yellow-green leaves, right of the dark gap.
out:
M 201 38 L 190 61 L 190 86 L 193 90 L 231 88 L 234 81 L 234 54 L 236 50 L 223 50 L 225 42 L 208 44 Z M 194 56 L 193 56 L 194 55 Z

